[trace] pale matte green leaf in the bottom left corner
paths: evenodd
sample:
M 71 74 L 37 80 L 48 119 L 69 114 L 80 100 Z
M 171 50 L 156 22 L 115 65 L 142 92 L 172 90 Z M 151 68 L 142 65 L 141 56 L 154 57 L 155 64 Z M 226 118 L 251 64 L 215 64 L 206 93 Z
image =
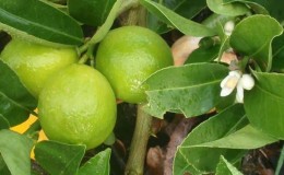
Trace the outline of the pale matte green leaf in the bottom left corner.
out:
M 0 153 L 12 175 L 31 175 L 33 141 L 23 135 L 0 130 Z

